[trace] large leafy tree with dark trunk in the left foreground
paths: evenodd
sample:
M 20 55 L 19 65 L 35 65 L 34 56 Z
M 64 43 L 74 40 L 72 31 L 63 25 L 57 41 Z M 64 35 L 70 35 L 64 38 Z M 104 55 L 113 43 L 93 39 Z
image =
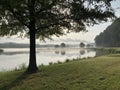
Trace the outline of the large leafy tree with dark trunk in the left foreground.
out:
M 0 36 L 30 37 L 27 71 L 36 72 L 35 39 L 86 30 L 113 18 L 112 0 L 0 0 Z

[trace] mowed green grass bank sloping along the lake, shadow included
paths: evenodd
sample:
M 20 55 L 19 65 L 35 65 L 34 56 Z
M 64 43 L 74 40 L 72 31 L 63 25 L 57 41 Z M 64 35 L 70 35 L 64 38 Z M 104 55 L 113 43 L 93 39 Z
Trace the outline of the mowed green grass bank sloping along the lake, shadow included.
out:
M 31 75 L 1 72 L 0 90 L 120 90 L 120 55 L 41 66 Z

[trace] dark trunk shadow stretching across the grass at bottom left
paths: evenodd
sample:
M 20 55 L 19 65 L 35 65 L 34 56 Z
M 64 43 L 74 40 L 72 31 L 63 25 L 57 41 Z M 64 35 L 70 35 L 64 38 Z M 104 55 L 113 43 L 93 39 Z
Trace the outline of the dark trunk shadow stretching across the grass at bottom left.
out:
M 10 90 L 13 87 L 17 86 L 20 84 L 20 82 L 22 80 L 24 80 L 25 78 L 27 78 L 29 74 L 26 74 L 25 72 L 23 74 L 21 74 L 20 76 L 18 76 L 15 80 L 13 80 L 11 83 L 8 83 L 7 85 L 4 85 L 3 87 L 0 88 L 0 90 Z

